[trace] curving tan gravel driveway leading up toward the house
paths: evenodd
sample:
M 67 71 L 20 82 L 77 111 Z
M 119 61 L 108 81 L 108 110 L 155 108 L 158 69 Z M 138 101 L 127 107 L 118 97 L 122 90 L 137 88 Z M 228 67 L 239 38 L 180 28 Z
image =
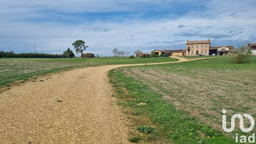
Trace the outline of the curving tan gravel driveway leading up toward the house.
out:
M 124 66 L 60 72 L 1 93 L 0 143 L 129 143 L 108 83 L 108 71 Z

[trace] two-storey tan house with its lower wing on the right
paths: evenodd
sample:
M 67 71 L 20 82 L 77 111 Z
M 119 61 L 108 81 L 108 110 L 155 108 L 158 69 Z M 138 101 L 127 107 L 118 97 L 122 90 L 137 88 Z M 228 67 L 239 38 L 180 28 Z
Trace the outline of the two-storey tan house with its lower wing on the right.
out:
M 190 48 L 190 51 L 188 51 Z M 211 56 L 213 54 L 217 56 L 226 56 L 233 53 L 234 46 L 217 46 L 211 47 L 211 40 L 189 41 L 187 40 L 187 56 L 198 56 L 203 54 L 205 56 Z

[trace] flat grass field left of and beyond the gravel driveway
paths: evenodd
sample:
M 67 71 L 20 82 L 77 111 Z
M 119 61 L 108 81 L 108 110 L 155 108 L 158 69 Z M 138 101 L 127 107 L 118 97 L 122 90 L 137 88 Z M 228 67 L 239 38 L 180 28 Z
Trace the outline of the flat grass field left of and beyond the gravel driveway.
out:
M 72 67 L 177 61 L 175 58 L 0 58 L 0 86 Z

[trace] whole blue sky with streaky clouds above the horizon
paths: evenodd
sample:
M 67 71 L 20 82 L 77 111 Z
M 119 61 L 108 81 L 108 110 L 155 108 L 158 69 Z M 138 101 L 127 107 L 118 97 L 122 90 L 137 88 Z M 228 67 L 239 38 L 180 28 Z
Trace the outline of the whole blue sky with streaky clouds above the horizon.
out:
M 82 39 L 86 53 L 113 48 L 149 53 L 185 49 L 187 40 L 211 46 L 256 42 L 255 0 L 1 0 L 0 50 L 62 53 Z

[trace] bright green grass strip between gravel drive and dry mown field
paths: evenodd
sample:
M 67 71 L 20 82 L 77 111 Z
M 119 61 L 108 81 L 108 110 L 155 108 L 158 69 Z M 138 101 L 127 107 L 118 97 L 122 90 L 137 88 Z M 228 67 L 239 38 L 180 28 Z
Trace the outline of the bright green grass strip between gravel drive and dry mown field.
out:
M 118 83 L 118 88 L 126 88 L 129 96 L 119 94 L 124 107 L 140 111 L 140 115 L 146 115 L 156 126 L 154 133 L 148 137 L 157 137 L 162 143 L 233 143 L 233 140 L 225 137 L 222 132 L 201 124 L 195 118 L 188 116 L 182 110 L 170 102 L 162 100 L 162 95 L 133 77 L 125 76 L 121 69 L 110 71 L 111 83 Z M 138 103 L 147 101 L 147 105 L 139 107 Z M 147 139 L 148 140 L 148 139 Z M 151 141 L 148 141 L 151 143 Z

